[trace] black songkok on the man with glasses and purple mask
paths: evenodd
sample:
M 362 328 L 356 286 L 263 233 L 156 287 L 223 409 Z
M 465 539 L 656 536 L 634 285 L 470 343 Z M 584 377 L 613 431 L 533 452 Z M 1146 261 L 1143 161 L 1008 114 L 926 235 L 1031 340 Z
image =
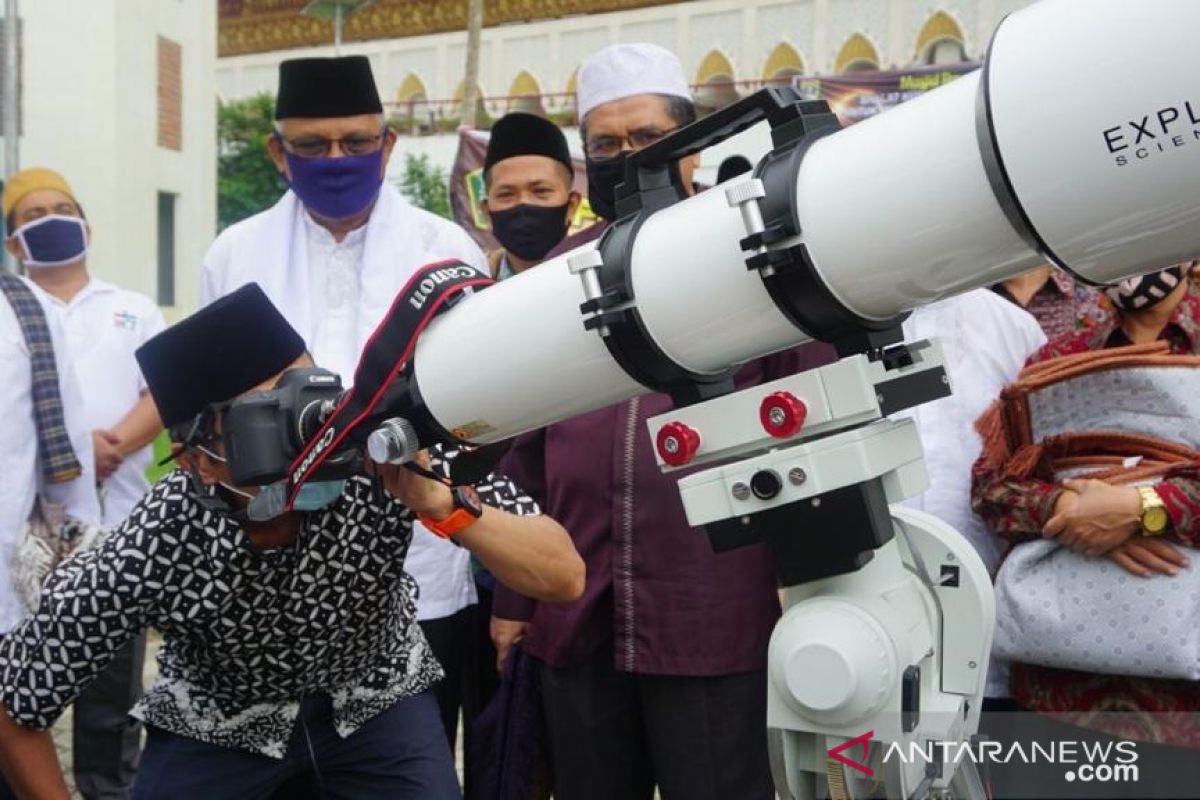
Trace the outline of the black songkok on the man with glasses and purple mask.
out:
M 280 64 L 277 120 L 382 113 L 371 61 L 365 55 L 292 59 Z

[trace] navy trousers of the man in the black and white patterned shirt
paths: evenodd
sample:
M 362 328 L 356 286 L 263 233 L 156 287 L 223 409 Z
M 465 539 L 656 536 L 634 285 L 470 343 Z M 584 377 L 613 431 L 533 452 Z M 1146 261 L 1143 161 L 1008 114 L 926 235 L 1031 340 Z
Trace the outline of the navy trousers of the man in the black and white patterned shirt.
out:
M 149 728 L 134 800 L 262 800 L 298 775 L 329 800 L 457 800 L 462 796 L 437 704 L 398 700 L 342 739 L 328 696 L 307 698 L 284 758 L 209 745 Z

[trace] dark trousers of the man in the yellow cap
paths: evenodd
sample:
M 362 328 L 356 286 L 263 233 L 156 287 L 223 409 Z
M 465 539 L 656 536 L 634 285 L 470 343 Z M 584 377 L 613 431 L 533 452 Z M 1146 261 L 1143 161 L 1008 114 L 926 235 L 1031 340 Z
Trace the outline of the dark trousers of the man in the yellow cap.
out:
M 71 751 L 76 786 L 86 800 L 125 800 L 142 752 L 142 723 L 130 709 L 142 697 L 146 634 L 125 645 L 74 702 Z

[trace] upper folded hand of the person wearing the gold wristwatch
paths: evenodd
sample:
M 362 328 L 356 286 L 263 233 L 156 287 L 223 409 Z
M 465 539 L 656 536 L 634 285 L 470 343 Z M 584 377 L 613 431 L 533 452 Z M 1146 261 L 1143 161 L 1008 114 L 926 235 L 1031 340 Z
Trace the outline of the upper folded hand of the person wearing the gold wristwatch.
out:
M 1141 495 L 1132 486 L 1069 479 L 1042 533 L 1070 549 L 1096 558 L 1141 529 Z M 1074 495 L 1074 497 L 1072 497 Z

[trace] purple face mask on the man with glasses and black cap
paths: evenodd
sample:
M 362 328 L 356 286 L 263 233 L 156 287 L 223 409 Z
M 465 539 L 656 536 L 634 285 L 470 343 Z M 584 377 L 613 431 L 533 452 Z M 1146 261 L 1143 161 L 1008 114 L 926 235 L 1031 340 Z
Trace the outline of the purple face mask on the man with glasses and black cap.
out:
M 301 158 L 284 151 L 292 191 L 310 211 L 344 219 L 374 203 L 383 185 L 383 149 L 365 156 Z

